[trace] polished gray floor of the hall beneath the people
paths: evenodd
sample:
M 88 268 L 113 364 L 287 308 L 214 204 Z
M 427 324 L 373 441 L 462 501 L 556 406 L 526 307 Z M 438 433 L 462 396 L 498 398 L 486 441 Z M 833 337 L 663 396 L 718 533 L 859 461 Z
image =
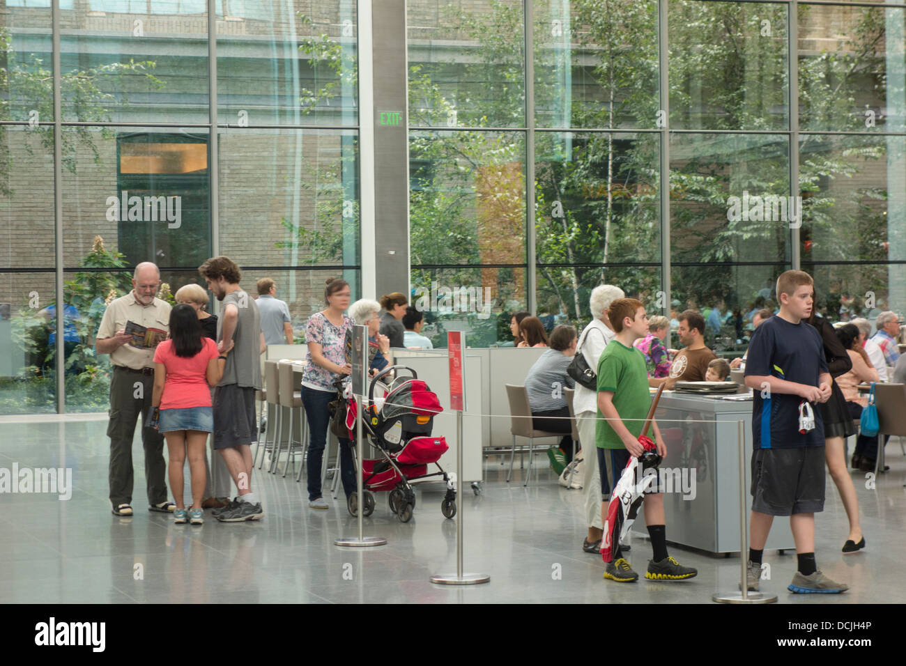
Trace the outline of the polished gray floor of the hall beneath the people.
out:
M 78 419 L 78 418 L 76 418 Z M 106 420 L 85 416 L 0 419 L 0 470 L 72 468 L 72 497 L 0 494 L 0 602 L 4 603 L 706 603 L 717 592 L 737 589 L 737 558 L 715 557 L 672 546 L 671 555 L 699 568 L 680 583 L 602 579 L 601 559 L 580 549 L 585 526 L 582 491 L 566 490 L 545 470 L 523 487 L 496 458 L 487 461 L 483 492 L 467 492 L 466 571 L 490 574 L 489 584 L 448 587 L 430 574 L 456 571 L 456 524 L 440 513 L 443 490 L 422 486 L 408 524 L 378 495 L 365 519 L 366 536 L 388 545 L 338 548 L 337 536 L 356 533 L 342 501 L 327 511 L 306 505 L 304 483 L 255 471 L 263 497 L 258 523 L 174 525 L 150 513 L 144 471 L 134 446 L 135 516 L 112 516 L 107 500 Z M 763 589 L 780 603 L 903 603 L 901 564 L 906 554 L 906 460 L 898 439 L 887 447 L 892 470 L 875 489 L 853 475 L 867 549 L 844 557 L 846 516 L 828 478 L 827 503 L 817 517 L 817 559 L 824 573 L 850 584 L 840 595 L 795 595 L 786 585 L 795 555 L 766 553 L 772 580 Z M 542 462 L 542 458 L 537 458 Z M 2 473 L 2 472 L 0 472 Z M 668 526 L 668 538 L 670 526 Z M 631 562 L 643 572 L 651 548 L 632 541 Z

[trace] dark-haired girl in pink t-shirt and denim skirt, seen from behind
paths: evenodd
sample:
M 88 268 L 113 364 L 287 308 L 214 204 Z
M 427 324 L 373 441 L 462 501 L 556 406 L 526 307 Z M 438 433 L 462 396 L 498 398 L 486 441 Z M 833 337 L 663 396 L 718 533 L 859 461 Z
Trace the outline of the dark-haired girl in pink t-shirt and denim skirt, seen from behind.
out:
M 154 352 L 154 394 L 151 405 L 159 408 L 158 430 L 167 439 L 168 475 L 176 510 L 175 523 L 185 523 L 182 468 L 188 449 L 192 480 L 192 506 L 188 519 L 201 525 L 201 496 L 205 490 L 205 443 L 214 430 L 211 391 L 223 376 L 226 350 L 217 355 L 217 344 L 207 338 L 195 310 L 179 304 L 170 311 L 169 339 Z

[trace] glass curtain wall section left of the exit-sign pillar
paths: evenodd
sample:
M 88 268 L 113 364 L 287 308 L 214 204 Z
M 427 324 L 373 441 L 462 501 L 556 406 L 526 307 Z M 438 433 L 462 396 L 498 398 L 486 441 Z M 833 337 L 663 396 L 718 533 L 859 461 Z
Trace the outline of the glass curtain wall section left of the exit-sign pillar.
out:
M 250 294 L 275 280 L 296 341 L 327 277 L 359 292 L 355 1 L 213 5 L 209 16 L 207 0 L 59 0 L 53 72 L 51 0 L 5 3 L 0 415 L 63 403 L 57 275 L 67 411 L 109 407 L 94 336 L 139 262 L 159 265 L 172 303 L 180 286 L 204 285 L 208 256 L 232 257 Z

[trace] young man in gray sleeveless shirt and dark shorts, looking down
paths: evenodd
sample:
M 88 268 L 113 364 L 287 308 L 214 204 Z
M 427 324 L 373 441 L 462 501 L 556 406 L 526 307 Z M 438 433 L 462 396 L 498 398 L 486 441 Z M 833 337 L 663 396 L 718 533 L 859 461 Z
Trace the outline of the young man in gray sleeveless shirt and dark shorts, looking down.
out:
M 252 442 L 257 439 L 255 391 L 261 388 L 261 353 L 265 336 L 255 299 L 239 287 L 242 273 L 226 256 L 198 267 L 207 288 L 223 303 L 217 320 L 217 351 L 226 354 L 223 378 L 214 392 L 214 448 L 223 456 L 239 496 L 215 511 L 223 523 L 259 520 L 265 515 L 252 493 Z

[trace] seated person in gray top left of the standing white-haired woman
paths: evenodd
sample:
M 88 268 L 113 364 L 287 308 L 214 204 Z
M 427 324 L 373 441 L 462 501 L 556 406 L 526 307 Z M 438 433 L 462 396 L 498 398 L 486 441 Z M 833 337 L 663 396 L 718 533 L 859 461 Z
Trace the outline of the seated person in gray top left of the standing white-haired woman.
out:
M 532 427 L 564 434 L 558 449 L 547 450 L 557 476 L 573 459 L 573 426 L 564 388 L 575 388 L 575 381 L 566 372 L 573 362 L 575 343 L 576 333 L 572 326 L 563 323 L 554 326 L 550 348 L 538 357 L 525 377 L 525 392 L 532 409 Z

